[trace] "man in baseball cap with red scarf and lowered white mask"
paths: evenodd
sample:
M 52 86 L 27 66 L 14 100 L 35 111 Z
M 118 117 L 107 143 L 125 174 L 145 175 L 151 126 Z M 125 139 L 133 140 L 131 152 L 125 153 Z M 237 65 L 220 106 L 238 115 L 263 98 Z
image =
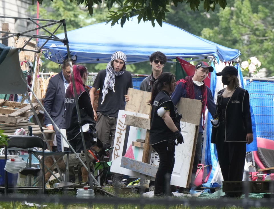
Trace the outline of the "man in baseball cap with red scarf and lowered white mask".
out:
M 211 73 L 212 71 L 213 67 L 209 66 L 207 62 L 198 62 L 194 69 L 194 75 L 186 76 L 186 78 L 177 81 L 175 91 L 172 93 L 171 96 L 174 105 L 177 105 L 181 97 L 190 99 L 200 99 L 202 102 L 202 113 L 199 134 L 196 142 L 196 150 L 192 168 L 192 184 L 195 180 L 197 166 L 202 153 L 202 135 L 204 129 L 202 121 L 205 119 L 206 107 L 208 108 L 212 116 L 214 115 L 216 107 L 212 97 L 211 90 L 204 83 L 204 79 L 206 79 L 208 73 Z

